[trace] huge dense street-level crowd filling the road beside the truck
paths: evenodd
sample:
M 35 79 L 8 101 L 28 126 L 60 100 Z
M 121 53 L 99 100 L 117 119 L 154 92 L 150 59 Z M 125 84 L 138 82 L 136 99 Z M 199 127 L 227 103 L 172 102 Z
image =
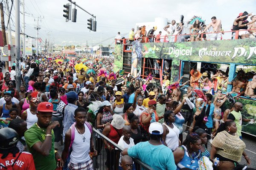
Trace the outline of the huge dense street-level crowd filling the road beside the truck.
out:
M 131 157 L 154 170 L 246 169 L 239 165 L 242 156 L 250 164 L 241 121 L 254 120 L 242 117 L 243 105 L 232 93 L 222 94 L 228 83 L 233 93 L 242 94 L 236 90 L 242 83 L 239 74 L 228 82 L 220 70 L 212 77 L 192 70 L 182 85 L 183 77 L 171 84 L 165 75 L 159 87 L 150 78 L 114 73 L 113 61 L 99 56 L 29 56 L 21 65 L 20 92 L 12 72 L 3 76 L 0 70 L 1 169 L 93 170 L 92 158 L 97 164 L 103 149 L 108 170 L 138 169 Z M 256 76 L 252 79 L 244 88 L 250 97 Z M 93 127 L 124 148 L 122 153 L 100 136 L 94 140 Z M 54 142 L 63 142 L 63 150 L 56 150 Z

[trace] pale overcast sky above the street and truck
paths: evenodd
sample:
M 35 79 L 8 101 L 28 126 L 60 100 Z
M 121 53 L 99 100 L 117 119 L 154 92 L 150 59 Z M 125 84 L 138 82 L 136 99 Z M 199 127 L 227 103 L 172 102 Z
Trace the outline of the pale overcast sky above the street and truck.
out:
M 24 1 L 27 13 L 25 33 L 36 37 L 35 20 L 41 16 L 43 19 L 39 20 L 39 37 L 44 42 L 46 38 L 48 41 L 49 32 L 50 41 L 53 39 L 55 45 L 84 46 L 86 41 L 88 45 L 99 45 L 101 36 L 103 46 L 114 45 L 117 32 L 128 37 L 128 32 L 135 27 L 135 23 L 153 22 L 155 17 L 166 17 L 178 22 L 181 14 L 184 15 L 184 21 L 197 15 L 206 20 L 206 23 L 211 21 L 212 16 L 216 16 L 221 20 L 224 31 L 230 31 L 233 20 L 240 12 L 256 14 L 256 0 L 76 0 L 76 4 L 96 16 L 97 31 L 93 32 L 87 28 L 87 19 L 91 16 L 78 7 L 77 22 L 65 22 L 63 5 L 69 3 L 67 0 Z M 12 20 L 15 21 L 15 9 L 11 13 Z M 20 22 L 22 26 L 22 15 Z M 12 23 L 12 30 L 14 27 L 15 23 Z

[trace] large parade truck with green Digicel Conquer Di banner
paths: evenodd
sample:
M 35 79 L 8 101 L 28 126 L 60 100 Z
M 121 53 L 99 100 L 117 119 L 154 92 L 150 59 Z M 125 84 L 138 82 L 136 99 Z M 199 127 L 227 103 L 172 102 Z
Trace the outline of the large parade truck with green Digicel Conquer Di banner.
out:
M 230 31 L 225 34 L 231 36 Z M 201 41 L 177 42 L 181 39 L 179 36 L 185 35 L 173 36 L 173 42 L 166 42 L 167 39 L 170 40 L 167 36 L 161 37 L 162 42 L 145 40 L 142 43 L 140 39 L 134 39 L 130 43 L 123 39 L 122 44 L 115 45 L 114 71 L 122 70 L 133 77 L 140 75 L 141 79 L 146 79 L 151 74 L 159 84 L 164 74 L 169 74 L 171 83 L 183 76 L 180 81 L 182 84 L 190 79 L 192 69 L 201 73 L 208 72 L 209 79 L 220 69 L 228 73 L 230 82 L 240 68 L 245 72 L 256 71 L 256 39 L 239 39 L 238 31 L 234 40 L 203 41 L 201 38 Z M 232 85 L 227 85 L 226 93 L 231 91 Z M 236 101 L 244 105 L 244 117 L 256 119 L 256 99 L 239 96 Z M 229 105 L 227 102 L 226 108 Z M 256 136 L 256 123 L 242 122 L 242 130 Z

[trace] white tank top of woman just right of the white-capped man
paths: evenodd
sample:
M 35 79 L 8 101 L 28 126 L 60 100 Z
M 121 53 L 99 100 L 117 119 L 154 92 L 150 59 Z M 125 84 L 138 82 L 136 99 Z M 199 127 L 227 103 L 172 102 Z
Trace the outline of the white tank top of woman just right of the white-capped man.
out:
M 173 123 L 173 129 L 166 125 L 166 123 L 163 123 L 163 125 L 165 125 L 169 130 L 169 133 L 166 135 L 166 144 L 171 150 L 175 150 L 176 147 L 179 146 L 178 135 L 180 133 L 180 130 Z

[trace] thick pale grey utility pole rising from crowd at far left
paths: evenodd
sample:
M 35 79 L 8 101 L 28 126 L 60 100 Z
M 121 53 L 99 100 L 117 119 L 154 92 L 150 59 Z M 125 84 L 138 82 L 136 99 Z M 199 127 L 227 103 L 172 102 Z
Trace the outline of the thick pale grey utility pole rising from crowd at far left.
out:
M 15 7 L 15 56 L 16 56 L 16 88 L 20 91 L 20 0 L 14 0 Z

